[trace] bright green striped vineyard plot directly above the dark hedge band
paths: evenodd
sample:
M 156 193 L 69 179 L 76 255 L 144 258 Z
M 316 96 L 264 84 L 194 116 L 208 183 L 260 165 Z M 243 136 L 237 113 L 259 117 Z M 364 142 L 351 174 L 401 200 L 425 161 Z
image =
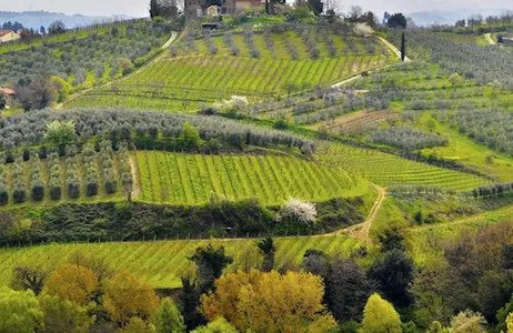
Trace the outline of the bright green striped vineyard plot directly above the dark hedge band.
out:
M 369 191 L 368 182 L 344 171 L 285 155 L 139 151 L 135 159 L 142 189 L 137 200 L 144 202 L 201 204 L 217 195 L 281 204 L 290 198 L 324 201 Z

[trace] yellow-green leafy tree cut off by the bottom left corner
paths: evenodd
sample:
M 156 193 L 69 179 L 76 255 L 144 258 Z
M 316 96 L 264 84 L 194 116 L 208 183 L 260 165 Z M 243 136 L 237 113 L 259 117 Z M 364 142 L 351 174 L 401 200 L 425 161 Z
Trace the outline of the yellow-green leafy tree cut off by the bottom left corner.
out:
M 0 289 L 0 332 L 30 333 L 42 326 L 43 313 L 31 290 Z

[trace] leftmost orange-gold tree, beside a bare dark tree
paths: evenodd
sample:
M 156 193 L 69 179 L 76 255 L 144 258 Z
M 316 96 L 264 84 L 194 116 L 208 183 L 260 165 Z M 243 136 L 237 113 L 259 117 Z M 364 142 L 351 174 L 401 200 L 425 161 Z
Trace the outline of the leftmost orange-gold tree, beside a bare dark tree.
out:
M 66 264 L 53 271 L 44 284 L 43 293 L 83 306 L 94 299 L 98 287 L 98 278 L 91 269 Z

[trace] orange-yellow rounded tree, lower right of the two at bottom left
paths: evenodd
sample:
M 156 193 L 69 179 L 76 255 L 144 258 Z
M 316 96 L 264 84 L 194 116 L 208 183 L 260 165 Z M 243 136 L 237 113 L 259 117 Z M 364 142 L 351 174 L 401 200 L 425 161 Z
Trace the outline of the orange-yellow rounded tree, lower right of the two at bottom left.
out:
M 102 301 L 111 320 L 121 327 L 133 316 L 148 321 L 159 306 L 153 290 L 127 272 L 118 272 L 107 280 Z

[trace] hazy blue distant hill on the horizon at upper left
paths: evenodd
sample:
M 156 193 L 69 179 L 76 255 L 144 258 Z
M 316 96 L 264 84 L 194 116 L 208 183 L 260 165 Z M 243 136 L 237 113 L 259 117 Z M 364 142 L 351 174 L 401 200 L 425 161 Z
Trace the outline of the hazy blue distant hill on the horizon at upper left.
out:
M 61 20 L 67 28 L 91 26 L 93 23 L 109 22 L 113 20 L 130 19 L 127 16 L 111 17 L 88 17 L 82 14 L 64 14 L 48 11 L 0 11 L 0 24 L 7 21 L 18 21 L 26 28 L 39 29 L 41 26 L 48 27 L 51 22 Z

